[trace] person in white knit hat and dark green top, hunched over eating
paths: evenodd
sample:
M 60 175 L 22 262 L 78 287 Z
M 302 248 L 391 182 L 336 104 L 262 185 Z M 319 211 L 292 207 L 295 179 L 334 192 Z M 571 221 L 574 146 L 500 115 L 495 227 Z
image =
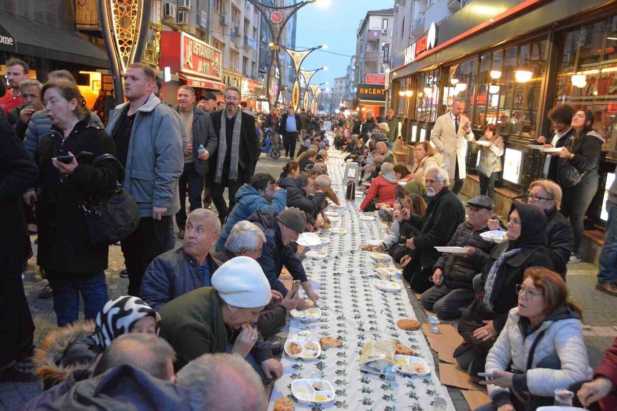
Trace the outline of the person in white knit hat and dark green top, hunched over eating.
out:
M 244 357 L 266 385 L 283 375 L 270 346 L 249 323 L 270 303 L 270 284 L 257 261 L 236 257 L 201 287 L 172 299 L 160 309 L 160 336 L 176 350 L 179 370 L 202 354 L 230 352 Z

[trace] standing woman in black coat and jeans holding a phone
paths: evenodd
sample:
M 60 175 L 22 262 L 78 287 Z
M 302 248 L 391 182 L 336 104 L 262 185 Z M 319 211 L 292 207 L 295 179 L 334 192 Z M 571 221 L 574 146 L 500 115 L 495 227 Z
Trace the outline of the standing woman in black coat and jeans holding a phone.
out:
M 57 322 L 64 326 L 78 318 L 79 293 L 86 319 L 94 319 L 109 299 L 103 272 L 109 246 L 89 244 L 82 206 L 84 201 L 115 189 L 116 182 L 123 179 L 123 169 L 112 161 L 90 165 L 99 155 L 115 155 L 115 145 L 104 129 L 91 123 L 75 84 L 50 82 L 41 94 L 52 129 L 43 136 L 36 152 L 41 170 L 36 205 L 37 264 L 47 272 Z M 80 157 L 83 152 L 92 156 Z M 72 159 L 64 163 L 59 156 Z

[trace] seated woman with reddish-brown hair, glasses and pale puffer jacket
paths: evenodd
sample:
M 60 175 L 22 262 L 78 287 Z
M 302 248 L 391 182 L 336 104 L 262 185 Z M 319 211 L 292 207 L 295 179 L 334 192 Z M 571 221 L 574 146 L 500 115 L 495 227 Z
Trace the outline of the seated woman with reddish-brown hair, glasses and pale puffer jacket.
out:
M 568 299 L 559 274 L 525 271 L 516 285 L 518 306 L 486 358 L 491 403 L 476 411 L 526 411 L 552 405 L 554 391 L 589 380 L 592 369 L 582 337 L 581 311 Z

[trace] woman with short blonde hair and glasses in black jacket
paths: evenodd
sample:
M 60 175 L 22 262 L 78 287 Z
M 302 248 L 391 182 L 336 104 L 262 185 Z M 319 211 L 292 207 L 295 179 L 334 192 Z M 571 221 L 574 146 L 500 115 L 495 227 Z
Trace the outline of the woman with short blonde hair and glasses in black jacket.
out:
M 561 187 L 550 180 L 537 180 L 529 185 L 527 203 L 544 211 L 548 221 L 546 242 L 553 255 L 555 271 L 565 279 L 568 259 L 574 247 L 572 226 L 559 212 L 561 206 Z

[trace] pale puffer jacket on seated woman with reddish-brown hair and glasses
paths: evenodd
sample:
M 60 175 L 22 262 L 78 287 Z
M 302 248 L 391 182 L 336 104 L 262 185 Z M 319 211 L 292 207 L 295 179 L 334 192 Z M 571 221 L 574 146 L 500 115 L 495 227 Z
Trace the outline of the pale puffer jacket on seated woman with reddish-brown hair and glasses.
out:
M 518 313 L 518 307 L 510 310 L 505 327 L 486 357 L 487 372 L 507 371 L 511 364 L 515 372 L 513 389 L 542 397 L 552 397 L 556 388 L 568 388 L 591 378 L 581 319 L 576 312 L 560 307 L 539 327 L 530 327 L 529 320 Z M 488 390 L 497 407 L 510 403 L 507 388 L 489 385 Z

